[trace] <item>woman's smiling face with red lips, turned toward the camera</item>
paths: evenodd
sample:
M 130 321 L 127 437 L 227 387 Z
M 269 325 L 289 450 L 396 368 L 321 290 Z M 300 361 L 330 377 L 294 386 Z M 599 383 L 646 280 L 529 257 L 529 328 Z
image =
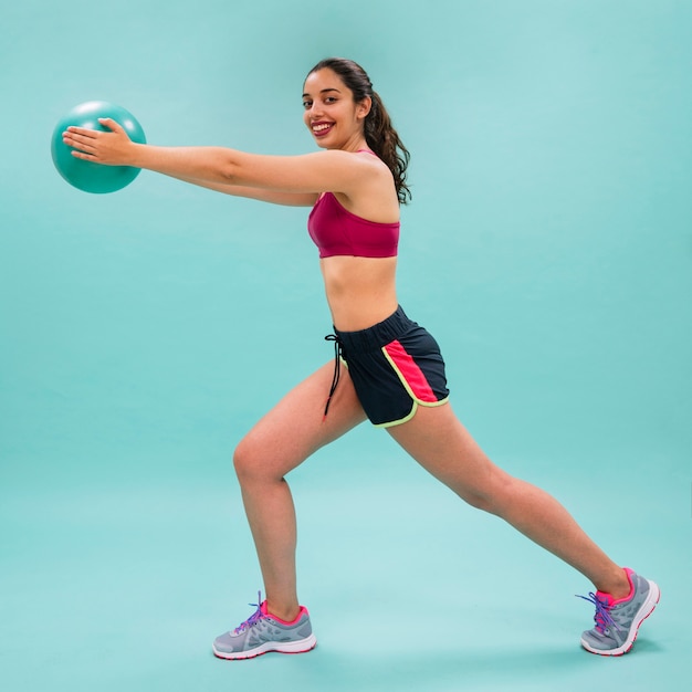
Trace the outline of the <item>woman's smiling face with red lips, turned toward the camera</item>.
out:
M 307 75 L 303 87 L 303 119 L 317 146 L 356 151 L 366 148 L 364 123 L 371 101 L 354 102 L 353 92 L 332 70 Z

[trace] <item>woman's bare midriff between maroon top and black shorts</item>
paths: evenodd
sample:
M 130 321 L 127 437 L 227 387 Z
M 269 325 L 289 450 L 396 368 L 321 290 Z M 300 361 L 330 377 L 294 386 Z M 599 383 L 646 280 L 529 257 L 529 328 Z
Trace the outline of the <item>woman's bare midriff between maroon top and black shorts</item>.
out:
M 334 326 L 358 332 L 382 322 L 398 306 L 397 258 L 337 255 L 319 260 Z

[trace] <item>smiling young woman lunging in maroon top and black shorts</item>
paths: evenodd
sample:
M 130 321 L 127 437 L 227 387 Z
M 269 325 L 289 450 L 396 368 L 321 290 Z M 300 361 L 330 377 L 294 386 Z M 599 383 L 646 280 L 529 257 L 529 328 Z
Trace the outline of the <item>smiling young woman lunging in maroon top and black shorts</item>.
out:
M 653 581 L 615 564 L 542 490 L 494 465 L 448 402 L 434 339 L 411 322 L 396 291 L 399 205 L 409 197 L 408 151 L 365 71 L 328 59 L 303 86 L 303 119 L 324 151 L 259 156 L 214 147 L 164 148 L 70 127 L 73 156 L 146 168 L 233 196 L 312 207 L 310 234 L 333 317 L 336 358 L 293 389 L 240 442 L 234 465 L 266 600 L 213 652 L 245 659 L 302 652 L 315 637 L 296 594 L 296 525 L 286 474 L 366 418 L 471 505 L 501 516 L 590 579 L 595 627 L 581 644 L 619 656 L 659 600 Z M 260 598 L 261 600 L 261 598 Z

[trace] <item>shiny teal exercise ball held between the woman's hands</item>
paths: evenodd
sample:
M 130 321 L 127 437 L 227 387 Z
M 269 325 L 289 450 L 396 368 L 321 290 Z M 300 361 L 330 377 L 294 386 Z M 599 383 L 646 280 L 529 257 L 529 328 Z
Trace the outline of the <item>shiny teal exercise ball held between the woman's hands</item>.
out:
M 51 154 L 57 172 L 70 185 L 85 192 L 103 195 L 115 192 L 129 185 L 140 169 L 132 166 L 104 166 L 72 156 L 74 149 L 63 143 L 63 133 L 71 125 L 109 132 L 98 122 L 98 118 L 113 118 L 125 129 L 133 141 L 146 144 L 144 129 L 129 111 L 105 101 L 90 101 L 75 106 L 60 119 L 53 130 Z

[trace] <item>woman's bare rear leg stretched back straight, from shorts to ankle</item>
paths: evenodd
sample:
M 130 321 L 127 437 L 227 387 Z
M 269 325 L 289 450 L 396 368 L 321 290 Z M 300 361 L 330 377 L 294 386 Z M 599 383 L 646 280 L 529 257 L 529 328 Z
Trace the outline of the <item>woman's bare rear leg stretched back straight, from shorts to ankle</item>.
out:
M 615 564 L 549 494 L 493 464 L 455 418 L 450 405 L 419 407 L 390 434 L 424 469 L 471 505 L 501 516 L 616 598 L 629 583 Z

